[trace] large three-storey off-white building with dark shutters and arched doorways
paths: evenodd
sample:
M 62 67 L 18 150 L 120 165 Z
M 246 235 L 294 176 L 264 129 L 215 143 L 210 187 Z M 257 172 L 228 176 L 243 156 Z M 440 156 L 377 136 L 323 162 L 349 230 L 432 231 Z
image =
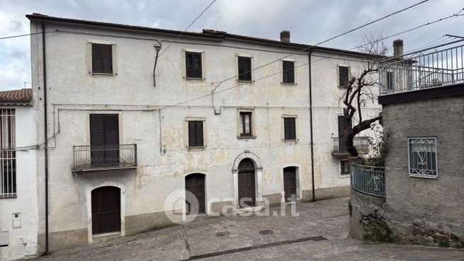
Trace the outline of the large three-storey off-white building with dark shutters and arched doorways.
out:
M 39 252 L 167 226 L 166 212 L 189 211 L 165 204 L 184 190 L 205 214 L 240 199 L 253 208 L 349 195 L 346 153 L 334 146 L 340 85 L 365 54 L 295 44 L 285 31 L 280 41 L 179 36 L 27 17 L 37 33 L 31 139 L 48 148 L 35 167 Z

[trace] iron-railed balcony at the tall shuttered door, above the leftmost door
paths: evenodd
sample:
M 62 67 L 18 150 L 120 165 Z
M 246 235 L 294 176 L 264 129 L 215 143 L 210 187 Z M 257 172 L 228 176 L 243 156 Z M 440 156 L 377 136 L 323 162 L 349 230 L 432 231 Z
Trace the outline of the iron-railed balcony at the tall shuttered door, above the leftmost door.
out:
M 137 168 L 137 144 L 74 146 L 74 173 L 130 168 Z

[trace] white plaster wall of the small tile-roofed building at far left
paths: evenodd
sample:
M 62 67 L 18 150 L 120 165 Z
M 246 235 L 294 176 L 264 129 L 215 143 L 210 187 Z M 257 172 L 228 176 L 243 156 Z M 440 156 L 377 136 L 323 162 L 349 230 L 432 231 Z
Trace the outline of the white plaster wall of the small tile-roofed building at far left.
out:
M 35 115 L 30 106 L 16 106 L 16 147 L 35 142 Z M 16 260 L 38 251 L 38 204 L 35 150 L 16 151 L 17 197 L 0 199 L 0 231 L 9 231 L 9 245 L 0 260 Z M 13 228 L 13 213 L 21 213 L 21 228 Z

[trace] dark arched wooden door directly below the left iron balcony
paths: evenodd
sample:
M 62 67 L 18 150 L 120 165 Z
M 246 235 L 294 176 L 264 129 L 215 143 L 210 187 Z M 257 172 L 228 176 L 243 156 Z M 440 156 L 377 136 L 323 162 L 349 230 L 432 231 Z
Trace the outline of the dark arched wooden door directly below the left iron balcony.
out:
M 118 187 L 98 187 L 92 190 L 92 233 L 121 230 L 121 197 Z

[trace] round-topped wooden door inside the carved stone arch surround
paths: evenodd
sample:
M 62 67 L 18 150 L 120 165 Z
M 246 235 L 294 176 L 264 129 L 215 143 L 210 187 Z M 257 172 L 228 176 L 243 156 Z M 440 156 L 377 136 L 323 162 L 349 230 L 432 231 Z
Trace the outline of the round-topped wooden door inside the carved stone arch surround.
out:
M 244 158 L 239 163 L 239 207 L 256 206 L 256 192 L 254 182 L 254 162 Z

